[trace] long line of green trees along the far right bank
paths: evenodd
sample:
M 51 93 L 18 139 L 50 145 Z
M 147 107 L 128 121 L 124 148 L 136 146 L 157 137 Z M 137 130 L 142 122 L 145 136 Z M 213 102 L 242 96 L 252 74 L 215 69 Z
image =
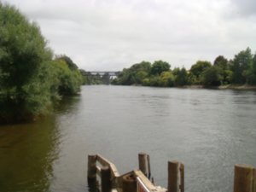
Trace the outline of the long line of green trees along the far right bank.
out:
M 256 84 L 256 54 L 250 48 L 241 50 L 232 60 L 223 55 L 211 63 L 196 61 L 186 70 L 166 61 L 148 61 L 124 68 L 112 84 L 141 84 L 145 86 L 179 87 L 184 85 L 219 86 L 224 84 Z

